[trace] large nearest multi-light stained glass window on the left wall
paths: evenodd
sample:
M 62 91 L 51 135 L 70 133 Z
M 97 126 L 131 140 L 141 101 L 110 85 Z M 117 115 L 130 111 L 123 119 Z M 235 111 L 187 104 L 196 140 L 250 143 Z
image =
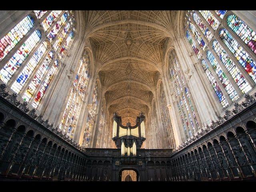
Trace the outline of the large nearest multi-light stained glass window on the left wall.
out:
M 74 37 L 74 24 L 72 11 L 35 10 L 0 39 L 0 80 L 34 108 Z

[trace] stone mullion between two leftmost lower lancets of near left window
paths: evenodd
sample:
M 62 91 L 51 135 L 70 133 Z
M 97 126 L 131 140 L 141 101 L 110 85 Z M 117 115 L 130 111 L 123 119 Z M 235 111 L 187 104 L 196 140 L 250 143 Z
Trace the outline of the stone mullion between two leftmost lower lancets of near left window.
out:
M 29 14 L 28 14 L 29 15 Z M 25 17 L 24 17 L 25 18 Z M 21 21 L 21 20 L 20 20 Z M 17 23 L 18 24 L 18 23 Z M 16 25 L 17 25 L 16 24 Z M 15 26 L 16 26 L 15 25 Z M 26 42 L 26 40 L 28 40 L 28 38 L 31 36 L 31 34 L 36 31 L 38 29 L 38 25 L 37 25 L 37 18 L 35 19 L 34 22 L 34 26 L 28 31 L 28 33 L 26 35 L 24 35 L 22 37 L 22 39 L 14 46 L 14 48 L 12 48 L 12 50 L 10 50 L 10 52 L 8 52 L 8 54 L 5 56 L 5 58 L 0 62 L 0 68 L 2 69 L 4 67 L 4 65 L 10 60 L 10 58 L 12 58 L 12 56 L 18 51 L 18 49 L 22 46 L 22 44 L 24 44 L 24 42 Z M 9 31 L 8 31 L 9 32 Z M 7 33 L 8 33 L 7 32 Z M 7 34 L 6 33 L 6 34 Z

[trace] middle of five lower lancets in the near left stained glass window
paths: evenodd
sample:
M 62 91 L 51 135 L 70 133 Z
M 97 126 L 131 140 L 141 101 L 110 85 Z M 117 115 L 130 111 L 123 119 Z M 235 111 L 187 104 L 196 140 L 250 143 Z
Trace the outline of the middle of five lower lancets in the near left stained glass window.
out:
M 28 61 L 26 66 L 23 68 L 22 72 L 18 75 L 16 81 L 12 84 L 11 89 L 14 92 L 19 93 L 28 78 L 30 77 L 31 73 L 33 72 L 34 68 L 44 55 L 47 50 L 47 42 L 44 41 L 40 47 L 36 50 L 33 57 Z

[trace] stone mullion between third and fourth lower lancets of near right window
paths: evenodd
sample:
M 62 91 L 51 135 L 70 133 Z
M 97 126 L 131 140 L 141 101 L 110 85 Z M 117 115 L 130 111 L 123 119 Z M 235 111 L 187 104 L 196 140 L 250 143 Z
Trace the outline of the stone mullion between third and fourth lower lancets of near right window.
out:
M 246 79 L 246 81 L 248 82 L 248 84 L 254 88 L 256 86 L 255 82 L 252 80 L 252 77 L 246 72 L 246 70 L 244 69 L 244 67 L 240 64 L 240 62 L 238 62 L 238 60 L 236 59 L 236 57 L 234 56 L 234 54 L 232 54 L 232 52 L 229 50 L 229 48 L 226 46 L 226 44 L 224 44 L 224 42 L 220 39 L 220 36 L 216 37 L 216 40 L 218 41 L 218 43 L 220 43 L 221 47 L 223 48 L 223 50 L 226 52 L 226 54 L 230 57 L 230 59 L 232 60 L 232 62 L 235 64 L 235 66 L 238 68 L 238 70 L 241 72 L 241 74 L 244 76 L 244 78 Z M 212 46 L 211 46 L 212 47 Z M 215 51 L 214 51 L 215 52 Z M 218 57 L 219 58 L 219 57 Z

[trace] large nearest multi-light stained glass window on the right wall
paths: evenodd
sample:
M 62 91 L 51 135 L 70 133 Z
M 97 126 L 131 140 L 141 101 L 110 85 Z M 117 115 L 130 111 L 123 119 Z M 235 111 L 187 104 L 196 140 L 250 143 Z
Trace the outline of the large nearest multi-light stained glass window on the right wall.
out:
M 185 20 L 185 36 L 190 33 L 190 39 L 195 39 L 194 44 L 202 54 L 201 58 L 198 57 L 202 70 L 222 106 L 231 105 L 252 90 L 256 83 L 256 66 L 252 58 L 254 53 L 248 54 L 246 47 L 255 51 L 255 32 L 226 10 L 188 11 Z M 236 36 L 233 37 L 232 33 Z M 200 44 L 201 39 L 207 48 Z M 239 44 L 238 39 L 243 44 Z M 194 50 L 193 45 L 192 48 Z

